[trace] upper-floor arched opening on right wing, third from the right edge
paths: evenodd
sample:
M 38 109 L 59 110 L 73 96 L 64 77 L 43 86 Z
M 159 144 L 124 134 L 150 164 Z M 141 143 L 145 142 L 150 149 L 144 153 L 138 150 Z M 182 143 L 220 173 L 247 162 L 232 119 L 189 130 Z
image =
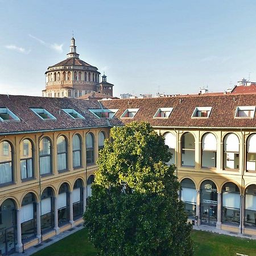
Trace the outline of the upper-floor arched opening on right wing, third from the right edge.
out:
M 202 167 L 216 167 L 217 140 L 212 133 L 204 134 L 202 139 Z

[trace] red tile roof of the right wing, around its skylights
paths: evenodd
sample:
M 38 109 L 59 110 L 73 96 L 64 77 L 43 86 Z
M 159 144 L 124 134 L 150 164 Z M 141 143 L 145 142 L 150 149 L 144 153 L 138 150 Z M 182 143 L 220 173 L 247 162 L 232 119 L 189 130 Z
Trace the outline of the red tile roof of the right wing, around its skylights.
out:
M 254 118 L 234 118 L 237 106 L 255 106 L 256 94 L 222 94 L 218 96 L 176 96 L 101 101 L 104 108 L 119 109 L 115 116 L 123 123 L 148 121 L 154 127 L 256 127 Z M 212 107 L 209 118 L 191 118 L 196 107 Z M 120 118 L 126 109 L 138 108 L 134 118 Z M 159 108 L 174 108 L 169 118 L 153 118 Z M 111 119 L 117 125 L 116 119 Z

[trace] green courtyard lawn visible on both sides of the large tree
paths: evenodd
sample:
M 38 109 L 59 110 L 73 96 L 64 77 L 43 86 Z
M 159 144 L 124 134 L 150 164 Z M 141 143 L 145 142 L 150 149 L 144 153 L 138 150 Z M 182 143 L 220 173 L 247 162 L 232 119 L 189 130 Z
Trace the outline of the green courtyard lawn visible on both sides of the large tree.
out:
M 256 241 L 245 238 L 224 236 L 203 231 L 193 231 L 192 239 L 195 241 L 195 256 L 234 256 L 237 253 L 256 256 Z M 46 247 L 34 256 L 96 256 L 96 250 L 88 242 L 86 229 L 81 229 L 71 236 Z

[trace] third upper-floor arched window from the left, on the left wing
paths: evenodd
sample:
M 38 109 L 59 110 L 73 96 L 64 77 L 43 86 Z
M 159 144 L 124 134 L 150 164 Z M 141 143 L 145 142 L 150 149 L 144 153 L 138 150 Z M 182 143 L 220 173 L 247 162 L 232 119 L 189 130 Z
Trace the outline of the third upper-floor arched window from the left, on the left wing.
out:
M 48 138 L 44 137 L 39 143 L 39 169 L 40 175 L 52 172 L 52 147 Z

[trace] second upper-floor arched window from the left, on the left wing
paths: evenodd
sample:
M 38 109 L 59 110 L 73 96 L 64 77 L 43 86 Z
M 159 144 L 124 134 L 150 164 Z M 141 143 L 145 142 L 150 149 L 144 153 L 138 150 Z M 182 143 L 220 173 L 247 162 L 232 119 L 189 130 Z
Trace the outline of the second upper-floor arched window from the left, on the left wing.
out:
M 32 143 L 24 139 L 20 143 L 20 172 L 22 180 L 33 177 Z

